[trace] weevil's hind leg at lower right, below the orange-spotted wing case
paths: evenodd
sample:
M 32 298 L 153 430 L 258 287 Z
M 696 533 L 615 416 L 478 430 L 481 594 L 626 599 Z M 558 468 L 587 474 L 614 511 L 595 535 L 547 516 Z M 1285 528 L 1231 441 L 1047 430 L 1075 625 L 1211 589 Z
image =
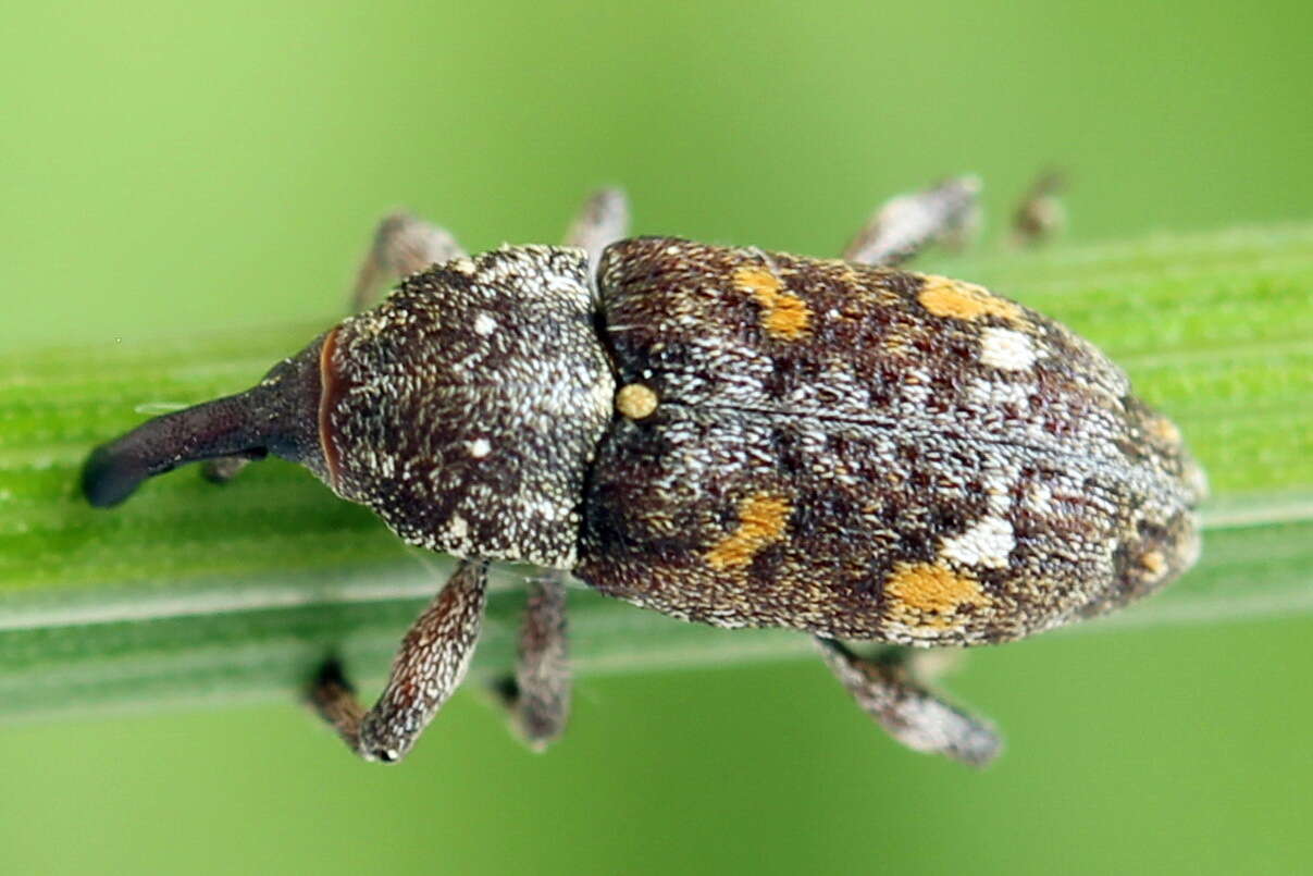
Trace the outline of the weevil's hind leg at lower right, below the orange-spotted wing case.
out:
M 994 728 L 949 705 L 915 679 L 913 665 L 924 651 L 894 647 L 868 659 L 832 638 L 817 637 L 815 642 L 857 705 L 909 749 L 943 754 L 973 767 L 998 755 L 1002 743 Z

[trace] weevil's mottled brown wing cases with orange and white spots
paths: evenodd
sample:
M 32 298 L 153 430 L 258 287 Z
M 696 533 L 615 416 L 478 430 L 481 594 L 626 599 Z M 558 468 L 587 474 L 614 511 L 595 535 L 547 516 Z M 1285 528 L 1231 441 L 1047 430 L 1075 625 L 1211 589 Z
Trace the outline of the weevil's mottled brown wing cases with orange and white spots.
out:
M 600 267 L 617 415 L 576 575 L 721 626 L 999 642 L 1197 553 L 1199 469 L 1125 376 L 970 284 L 647 238 Z M 622 390 L 624 391 L 624 390 Z

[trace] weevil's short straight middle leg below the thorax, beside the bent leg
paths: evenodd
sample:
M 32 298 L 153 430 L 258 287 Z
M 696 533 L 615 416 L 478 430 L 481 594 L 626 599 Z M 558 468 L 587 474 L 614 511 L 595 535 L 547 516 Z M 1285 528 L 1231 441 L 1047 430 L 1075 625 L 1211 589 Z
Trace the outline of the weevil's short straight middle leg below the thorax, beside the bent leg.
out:
M 566 573 L 551 570 L 529 580 L 515 674 L 494 684 L 516 732 L 534 751 L 545 750 L 565 730 L 570 682 Z

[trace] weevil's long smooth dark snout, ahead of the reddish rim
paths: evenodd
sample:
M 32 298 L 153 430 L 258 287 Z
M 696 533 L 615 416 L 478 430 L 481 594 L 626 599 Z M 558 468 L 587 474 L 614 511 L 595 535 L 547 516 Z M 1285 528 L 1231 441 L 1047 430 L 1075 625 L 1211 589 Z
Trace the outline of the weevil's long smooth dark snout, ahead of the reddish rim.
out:
M 319 353 L 323 338 L 238 395 L 165 414 L 92 450 L 81 489 L 97 508 L 116 506 L 142 481 L 186 462 L 276 453 L 323 477 Z

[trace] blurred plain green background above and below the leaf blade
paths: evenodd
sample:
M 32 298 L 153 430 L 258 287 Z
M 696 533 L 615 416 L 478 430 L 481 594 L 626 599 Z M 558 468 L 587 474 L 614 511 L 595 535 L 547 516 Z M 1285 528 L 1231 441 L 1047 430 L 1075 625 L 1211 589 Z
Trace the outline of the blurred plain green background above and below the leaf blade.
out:
M 1310 25 L 1295 1 L 12 7 L 0 344 L 327 323 L 383 211 L 553 240 L 605 183 L 639 232 L 813 253 L 945 172 L 985 177 L 997 235 L 1053 163 L 1075 239 L 1306 219 Z M 817 662 L 584 679 L 545 756 L 466 692 L 398 768 L 290 703 L 0 726 L 0 872 L 1305 872 L 1310 629 L 974 653 L 952 688 L 1008 739 L 978 775 L 893 746 Z

